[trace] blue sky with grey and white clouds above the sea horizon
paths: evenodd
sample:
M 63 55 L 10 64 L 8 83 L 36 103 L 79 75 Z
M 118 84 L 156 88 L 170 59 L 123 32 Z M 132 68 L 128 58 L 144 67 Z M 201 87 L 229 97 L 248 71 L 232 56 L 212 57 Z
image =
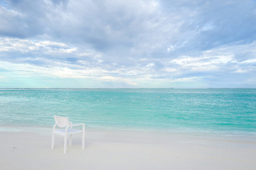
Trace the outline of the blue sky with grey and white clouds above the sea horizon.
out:
M 0 0 L 0 87 L 256 87 L 256 1 Z

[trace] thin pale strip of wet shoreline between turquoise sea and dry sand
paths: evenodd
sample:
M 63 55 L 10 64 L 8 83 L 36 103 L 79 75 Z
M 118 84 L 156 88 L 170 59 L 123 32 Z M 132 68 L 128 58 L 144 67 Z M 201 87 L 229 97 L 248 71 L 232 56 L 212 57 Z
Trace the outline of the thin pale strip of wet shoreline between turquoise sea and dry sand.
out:
M 0 125 L 0 132 L 36 132 L 39 135 L 48 135 L 52 131 L 52 126 L 36 126 L 36 125 Z M 87 126 L 85 131 L 106 131 L 106 132 L 140 132 L 151 134 L 164 134 L 164 135 L 188 135 L 188 136 L 210 136 L 210 137 L 239 137 L 239 138 L 252 138 L 256 139 L 256 132 L 243 132 L 243 131 L 202 131 L 202 130 L 169 130 L 164 128 L 125 128 L 114 126 Z

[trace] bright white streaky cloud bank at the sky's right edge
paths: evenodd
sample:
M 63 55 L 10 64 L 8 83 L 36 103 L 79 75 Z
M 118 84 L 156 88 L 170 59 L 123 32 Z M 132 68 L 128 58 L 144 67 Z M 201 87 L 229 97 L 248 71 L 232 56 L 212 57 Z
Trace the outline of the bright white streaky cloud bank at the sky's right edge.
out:
M 199 56 L 182 55 L 169 60 L 166 68 L 178 69 L 183 74 L 188 72 L 226 72 L 250 73 L 256 66 L 256 43 L 225 45 L 201 52 Z M 242 60 L 247 58 L 247 60 Z M 248 67 L 247 64 L 250 64 Z

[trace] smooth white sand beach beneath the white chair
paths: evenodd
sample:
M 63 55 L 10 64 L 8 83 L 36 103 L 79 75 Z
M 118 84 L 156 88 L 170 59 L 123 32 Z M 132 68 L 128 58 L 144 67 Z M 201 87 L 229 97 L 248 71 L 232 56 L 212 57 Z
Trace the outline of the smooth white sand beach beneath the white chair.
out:
M 63 154 L 50 133 L 0 132 L 0 169 L 256 169 L 255 137 L 87 130 Z

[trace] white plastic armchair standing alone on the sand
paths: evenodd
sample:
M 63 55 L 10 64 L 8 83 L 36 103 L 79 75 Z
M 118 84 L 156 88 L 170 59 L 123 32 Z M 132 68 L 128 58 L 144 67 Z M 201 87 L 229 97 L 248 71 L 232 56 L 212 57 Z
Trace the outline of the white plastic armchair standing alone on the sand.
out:
M 53 137 L 52 137 L 51 149 L 54 148 L 55 134 L 61 135 L 64 137 L 64 153 L 66 153 L 68 136 L 70 138 L 69 145 L 71 146 L 72 135 L 77 133 L 82 133 L 82 149 L 85 149 L 85 124 L 84 123 L 73 124 L 68 120 L 68 117 L 62 117 L 57 115 L 54 115 L 54 119 L 55 119 L 55 125 L 53 125 Z M 59 128 L 56 128 L 57 125 Z M 82 125 L 82 130 L 73 129 L 73 126 L 79 126 L 79 125 Z

